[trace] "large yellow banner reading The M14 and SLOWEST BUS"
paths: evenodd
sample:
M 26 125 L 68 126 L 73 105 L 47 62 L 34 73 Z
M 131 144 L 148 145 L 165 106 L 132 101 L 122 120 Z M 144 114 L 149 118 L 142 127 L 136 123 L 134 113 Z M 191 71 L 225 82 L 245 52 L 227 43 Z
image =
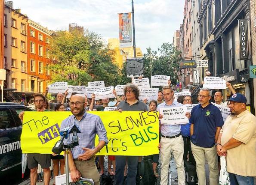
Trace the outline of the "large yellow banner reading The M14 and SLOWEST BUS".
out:
M 92 111 L 100 116 L 107 131 L 108 145 L 96 155 L 152 155 L 159 153 L 158 112 Z M 62 120 L 71 112 L 25 112 L 21 148 L 23 153 L 52 153 L 60 140 Z M 99 137 L 96 137 L 96 146 Z

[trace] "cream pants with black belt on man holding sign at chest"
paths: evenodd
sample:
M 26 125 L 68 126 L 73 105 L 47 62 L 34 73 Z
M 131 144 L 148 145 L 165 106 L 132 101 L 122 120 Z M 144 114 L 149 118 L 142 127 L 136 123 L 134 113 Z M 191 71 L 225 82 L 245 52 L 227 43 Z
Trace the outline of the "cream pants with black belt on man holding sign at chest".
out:
M 179 137 L 171 139 L 161 137 L 160 144 L 160 156 L 162 163 L 160 185 L 167 185 L 171 152 L 173 152 L 176 161 L 179 185 L 185 185 L 185 169 L 183 164 L 184 143 L 182 136 L 180 135 Z

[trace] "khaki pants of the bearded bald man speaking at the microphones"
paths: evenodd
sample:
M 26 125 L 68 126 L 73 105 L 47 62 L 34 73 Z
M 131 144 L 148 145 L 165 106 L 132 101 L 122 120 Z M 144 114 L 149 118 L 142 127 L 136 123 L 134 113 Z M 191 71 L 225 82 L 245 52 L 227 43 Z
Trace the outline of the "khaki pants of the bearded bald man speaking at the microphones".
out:
M 100 185 L 99 171 L 95 164 L 95 158 L 92 157 L 87 161 L 74 161 L 77 170 L 81 173 L 81 177 L 93 179 L 95 185 Z

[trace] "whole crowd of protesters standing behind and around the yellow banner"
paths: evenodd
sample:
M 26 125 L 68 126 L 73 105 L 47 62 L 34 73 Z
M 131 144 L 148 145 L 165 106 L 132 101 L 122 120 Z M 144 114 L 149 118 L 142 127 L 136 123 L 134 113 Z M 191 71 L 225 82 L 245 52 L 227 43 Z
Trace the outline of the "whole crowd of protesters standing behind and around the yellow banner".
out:
M 174 98 L 174 91 L 170 86 L 165 86 L 158 92 L 157 101 L 148 102 L 139 100 L 139 89 L 134 84 L 126 84 L 124 95 L 117 99 L 116 111 L 159 111 L 160 108 L 180 107 L 183 104 L 192 104 L 190 95 Z M 214 94 L 214 103 L 210 102 L 212 90 L 201 88 L 197 97 L 199 104 L 195 105 L 191 113 L 186 113 L 189 118 L 187 124 L 167 125 L 159 121 L 160 142 L 159 155 L 150 156 L 154 176 L 160 178 L 161 185 L 167 185 L 171 153 L 173 153 L 178 176 L 175 178 L 179 185 L 185 185 L 184 162 L 190 161 L 196 167 L 197 182 L 206 185 L 205 162 L 207 160 L 210 171 L 210 185 L 219 184 L 218 156 L 226 156 L 227 171 L 231 185 L 253 185 L 256 176 L 256 117 L 246 108 L 247 99 L 244 95 L 236 93 L 230 83 L 227 87 L 233 95 L 227 102 L 223 102 L 223 94 L 217 91 Z M 46 94 L 48 89 L 46 89 Z M 104 173 L 104 156 L 99 156 L 99 170 L 97 170 L 94 155 L 108 143 L 105 127 L 99 116 L 87 111 L 103 111 L 108 107 L 108 98 L 95 101 L 92 98 L 72 93 L 69 103 L 65 103 L 68 90 L 57 95 L 57 103 L 48 103 L 44 95 L 34 96 L 35 111 L 65 111 L 71 110 L 72 114 L 62 122 L 61 128 L 68 127 L 72 122 L 80 125 L 82 143 L 71 150 L 69 155 L 69 169 L 72 181 L 80 177 L 92 178 L 99 185 L 100 175 Z M 221 111 L 215 104 L 229 107 L 231 114 L 223 121 Z M 23 120 L 25 112 L 19 117 Z M 159 114 L 159 119 L 163 115 Z M 99 144 L 95 146 L 95 135 L 99 136 Z M 85 135 L 90 135 L 86 137 Z M 66 140 L 68 142 L 68 140 Z M 160 175 L 157 165 L 161 161 Z M 38 164 L 43 169 L 44 184 L 49 185 L 50 160 L 53 161 L 54 176 L 64 174 L 64 156 L 56 154 L 28 154 L 28 168 L 31 169 L 31 185 L 37 182 Z M 108 156 L 108 173 L 115 176 L 114 184 L 136 185 L 136 174 L 139 156 Z M 113 170 L 111 169 L 113 167 Z

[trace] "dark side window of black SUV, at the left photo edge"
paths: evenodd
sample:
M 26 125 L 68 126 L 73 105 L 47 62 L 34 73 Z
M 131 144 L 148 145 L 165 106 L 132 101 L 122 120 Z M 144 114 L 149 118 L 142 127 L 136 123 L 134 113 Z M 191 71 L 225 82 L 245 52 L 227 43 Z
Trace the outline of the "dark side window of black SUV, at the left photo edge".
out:
M 15 126 L 10 110 L 0 110 L 0 129 L 13 128 Z

